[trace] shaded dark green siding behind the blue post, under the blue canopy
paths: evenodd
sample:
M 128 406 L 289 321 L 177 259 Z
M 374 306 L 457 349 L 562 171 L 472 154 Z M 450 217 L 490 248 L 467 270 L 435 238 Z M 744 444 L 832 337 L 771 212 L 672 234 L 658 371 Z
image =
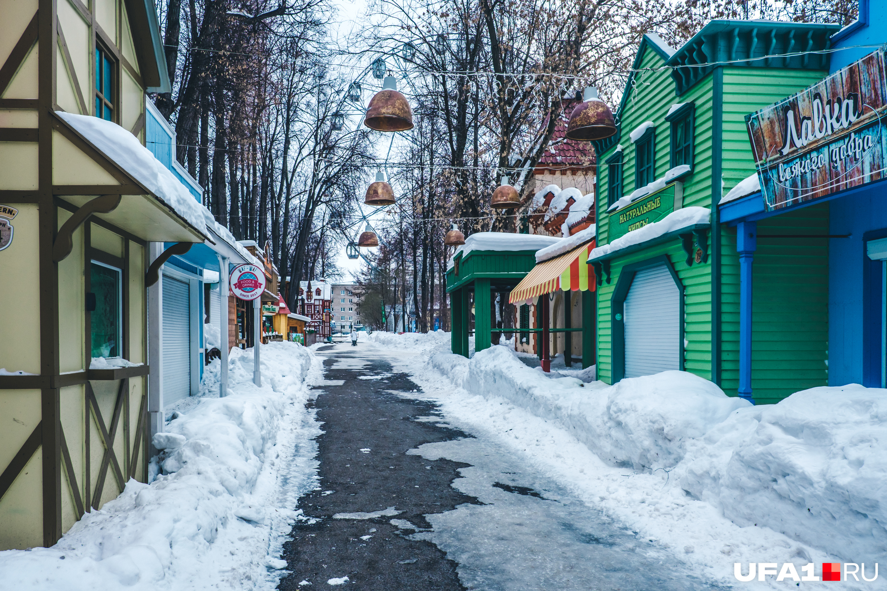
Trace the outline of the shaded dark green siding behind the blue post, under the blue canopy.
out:
M 757 222 L 757 234 L 751 388 L 757 403 L 770 404 L 799 390 L 828 385 L 828 240 L 765 236 L 828 234 L 828 203 Z M 735 396 L 739 385 L 739 257 L 736 230 L 725 229 L 723 236 L 722 387 Z

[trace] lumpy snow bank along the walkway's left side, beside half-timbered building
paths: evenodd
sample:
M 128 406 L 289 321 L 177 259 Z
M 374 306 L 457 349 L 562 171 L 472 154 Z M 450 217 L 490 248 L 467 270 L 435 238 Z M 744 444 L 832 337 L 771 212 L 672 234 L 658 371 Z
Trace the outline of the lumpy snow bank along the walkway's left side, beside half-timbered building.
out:
M 287 507 L 293 494 L 316 486 L 313 477 L 284 472 L 292 470 L 286 466 L 294 448 L 319 433 L 304 408 L 306 375 L 319 377 L 315 359 L 293 343 L 263 346 L 260 388 L 252 383 L 252 350 L 233 349 L 231 394 L 200 400 L 154 437 L 164 451 L 151 467 L 161 474 L 150 485 L 130 479 L 119 497 L 86 514 L 52 548 L 0 552 L 4 585 L 275 587 L 283 567 L 279 536 L 304 518 Z M 290 478 L 297 492 L 281 499 L 279 478 Z

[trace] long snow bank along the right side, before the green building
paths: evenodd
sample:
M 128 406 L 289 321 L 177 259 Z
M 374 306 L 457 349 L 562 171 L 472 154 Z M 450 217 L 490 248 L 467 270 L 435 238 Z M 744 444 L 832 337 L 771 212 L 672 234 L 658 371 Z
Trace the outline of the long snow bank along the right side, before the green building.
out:
M 428 367 L 560 425 L 606 463 L 666 471 L 667 486 L 736 525 L 887 561 L 887 390 L 812 388 L 752 407 L 682 371 L 612 386 L 546 377 L 504 346 L 471 360 L 433 353 Z

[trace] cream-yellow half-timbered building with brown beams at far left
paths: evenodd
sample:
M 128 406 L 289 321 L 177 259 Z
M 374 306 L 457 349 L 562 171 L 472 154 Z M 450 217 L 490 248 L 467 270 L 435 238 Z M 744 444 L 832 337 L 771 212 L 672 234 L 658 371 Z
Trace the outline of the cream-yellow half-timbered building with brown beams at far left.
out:
M 146 480 L 146 294 L 188 247 L 162 243 L 207 231 L 140 152 L 145 91 L 169 90 L 153 0 L 0 0 L 0 15 L 7 549 L 51 546 Z

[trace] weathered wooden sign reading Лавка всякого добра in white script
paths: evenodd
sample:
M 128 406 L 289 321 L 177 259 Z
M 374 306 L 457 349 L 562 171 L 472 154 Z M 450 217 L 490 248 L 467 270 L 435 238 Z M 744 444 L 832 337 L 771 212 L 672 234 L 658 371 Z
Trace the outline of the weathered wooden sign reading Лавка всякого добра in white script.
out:
M 884 49 L 745 122 L 767 211 L 887 178 Z

